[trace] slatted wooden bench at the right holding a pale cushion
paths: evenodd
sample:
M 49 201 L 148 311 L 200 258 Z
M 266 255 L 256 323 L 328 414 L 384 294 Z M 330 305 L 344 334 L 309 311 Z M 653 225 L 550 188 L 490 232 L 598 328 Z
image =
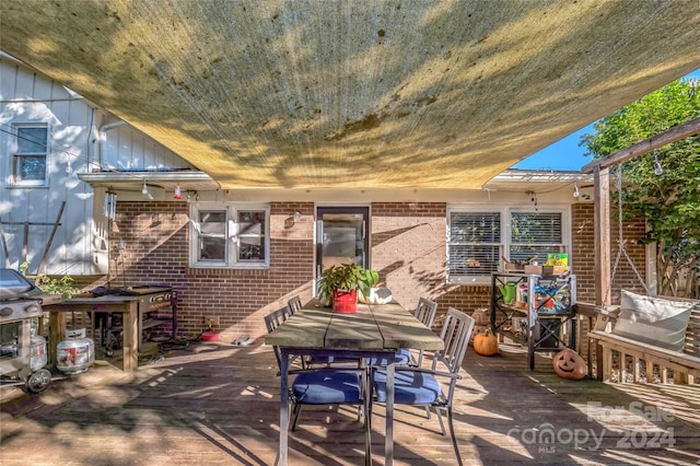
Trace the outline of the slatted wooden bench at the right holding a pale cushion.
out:
M 632 381 L 634 383 L 641 381 L 640 361 L 645 363 L 643 375 L 646 382 L 653 381 L 654 365 L 658 366 L 662 383 L 667 383 L 668 370 L 673 371 L 673 381 L 676 384 L 693 384 L 696 380 L 700 380 L 700 305 L 696 305 L 690 311 L 682 351 L 656 347 L 614 334 L 612 328 L 619 312 L 619 306 L 597 307 L 594 329 L 588 333 L 591 342 L 596 345 L 598 380 L 606 382 L 612 380 L 614 352 L 619 357 L 619 382 L 625 382 L 628 376 L 627 357 L 633 360 Z

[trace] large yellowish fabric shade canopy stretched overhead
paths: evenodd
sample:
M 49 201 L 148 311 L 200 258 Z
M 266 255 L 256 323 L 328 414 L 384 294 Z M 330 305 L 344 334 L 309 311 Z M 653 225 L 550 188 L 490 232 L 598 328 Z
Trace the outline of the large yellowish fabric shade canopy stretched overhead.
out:
M 697 0 L 3 0 L 0 22 L 222 189 L 481 188 L 700 68 Z

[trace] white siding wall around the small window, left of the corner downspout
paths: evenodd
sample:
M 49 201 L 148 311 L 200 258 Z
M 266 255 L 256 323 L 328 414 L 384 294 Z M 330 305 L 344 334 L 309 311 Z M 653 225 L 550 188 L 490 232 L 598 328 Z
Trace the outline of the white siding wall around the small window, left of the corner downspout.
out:
M 47 273 L 95 273 L 90 260 L 92 189 L 78 179 L 86 170 L 92 143 L 90 124 L 93 108 L 61 85 L 14 63 L 0 59 L 0 219 L 8 244 L 10 266 L 18 268 L 26 259 L 35 272 L 44 256 L 61 203 L 66 209 L 46 260 Z M 48 186 L 12 187 L 12 125 L 46 123 L 49 132 L 47 160 Z M 28 222 L 25 229 L 24 223 Z M 26 232 L 26 233 L 25 233 Z M 2 266 L 4 248 L 0 247 Z

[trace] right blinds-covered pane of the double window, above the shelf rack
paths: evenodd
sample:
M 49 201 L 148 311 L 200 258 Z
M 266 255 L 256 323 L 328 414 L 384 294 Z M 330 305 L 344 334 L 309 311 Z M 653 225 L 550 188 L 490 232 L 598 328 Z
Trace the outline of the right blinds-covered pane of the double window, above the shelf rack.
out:
M 511 212 L 511 261 L 547 261 L 548 253 L 565 251 L 562 212 Z

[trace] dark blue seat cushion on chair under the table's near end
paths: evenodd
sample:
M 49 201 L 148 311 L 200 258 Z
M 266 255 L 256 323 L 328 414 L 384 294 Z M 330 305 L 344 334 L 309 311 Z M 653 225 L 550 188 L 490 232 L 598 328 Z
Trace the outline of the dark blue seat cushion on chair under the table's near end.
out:
M 292 393 L 298 403 L 308 405 L 359 404 L 360 376 L 357 372 L 311 372 L 296 375 Z

